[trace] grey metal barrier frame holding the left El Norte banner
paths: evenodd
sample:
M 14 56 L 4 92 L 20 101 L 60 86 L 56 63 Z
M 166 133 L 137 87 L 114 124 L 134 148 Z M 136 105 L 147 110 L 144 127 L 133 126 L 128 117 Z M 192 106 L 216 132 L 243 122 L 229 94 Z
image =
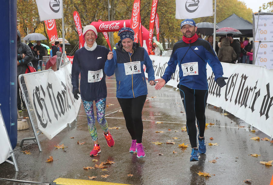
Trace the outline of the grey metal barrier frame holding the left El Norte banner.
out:
M 34 73 L 42 73 L 42 71 L 38 71 L 38 72 L 34 72 Z M 29 120 L 31 122 L 34 137 L 29 137 L 29 138 L 22 139 L 22 141 L 20 143 L 20 146 L 23 145 L 24 141 L 33 140 L 38 145 L 39 151 L 42 152 L 42 147 L 40 145 L 39 138 L 38 138 L 38 135 L 40 135 L 42 132 L 39 130 L 39 127 L 38 127 L 38 124 L 37 124 L 37 121 L 36 121 L 34 108 L 32 107 L 31 100 L 29 98 L 29 93 L 28 93 L 28 90 L 27 90 L 27 88 L 25 86 L 24 75 L 27 75 L 27 74 L 20 74 L 19 77 L 18 77 L 18 81 L 19 81 L 19 84 L 20 84 L 21 94 L 22 94 L 22 97 L 23 97 L 23 99 L 25 101 L 25 105 L 26 105 L 26 108 L 27 108 L 27 111 L 28 111 L 28 114 L 29 114 Z

